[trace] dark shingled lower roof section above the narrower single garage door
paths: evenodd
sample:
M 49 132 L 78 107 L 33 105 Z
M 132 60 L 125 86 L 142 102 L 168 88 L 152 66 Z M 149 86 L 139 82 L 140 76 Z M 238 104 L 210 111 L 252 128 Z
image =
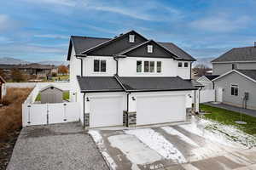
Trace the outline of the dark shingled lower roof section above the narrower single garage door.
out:
M 78 77 L 83 92 L 124 91 L 114 77 Z

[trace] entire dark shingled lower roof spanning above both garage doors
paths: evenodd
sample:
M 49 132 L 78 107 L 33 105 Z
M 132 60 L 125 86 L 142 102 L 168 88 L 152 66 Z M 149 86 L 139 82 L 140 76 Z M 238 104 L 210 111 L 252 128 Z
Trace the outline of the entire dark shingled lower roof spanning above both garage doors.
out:
M 195 90 L 180 77 L 78 77 L 81 92 L 147 92 Z

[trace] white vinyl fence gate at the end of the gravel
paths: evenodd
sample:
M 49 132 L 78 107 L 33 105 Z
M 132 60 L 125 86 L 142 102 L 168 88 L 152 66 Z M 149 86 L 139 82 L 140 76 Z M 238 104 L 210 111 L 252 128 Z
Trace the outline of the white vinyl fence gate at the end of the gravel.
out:
M 79 103 L 22 105 L 23 127 L 79 121 Z

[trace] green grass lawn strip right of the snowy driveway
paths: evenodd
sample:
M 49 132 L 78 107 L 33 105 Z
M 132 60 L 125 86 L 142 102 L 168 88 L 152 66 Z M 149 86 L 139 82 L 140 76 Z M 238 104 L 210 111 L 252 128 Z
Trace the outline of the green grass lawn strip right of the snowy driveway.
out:
M 227 111 L 208 105 L 200 105 L 200 108 L 202 111 L 206 111 L 207 113 L 209 113 L 205 115 L 207 119 L 211 119 L 225 125 L 233 125 L 248 134 L 256 134 L 256 117 L 254 116 L 247 116 L 245 114 L 240 114 L 235 111 Z M 247 124 L 236 124 L 236 121 L 240 121 L 240 119 L 241 121 L 247 122 Z

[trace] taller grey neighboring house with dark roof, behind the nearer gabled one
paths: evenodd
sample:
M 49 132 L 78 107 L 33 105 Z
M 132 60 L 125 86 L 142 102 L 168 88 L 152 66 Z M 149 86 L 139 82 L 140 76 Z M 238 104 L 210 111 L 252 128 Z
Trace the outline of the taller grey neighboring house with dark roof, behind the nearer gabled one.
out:
M 256 43 L 253 47 L 232 48 L 227 53 L 212 60 L 213 75 L 222 75 L 235 69 L 256 69 Z

